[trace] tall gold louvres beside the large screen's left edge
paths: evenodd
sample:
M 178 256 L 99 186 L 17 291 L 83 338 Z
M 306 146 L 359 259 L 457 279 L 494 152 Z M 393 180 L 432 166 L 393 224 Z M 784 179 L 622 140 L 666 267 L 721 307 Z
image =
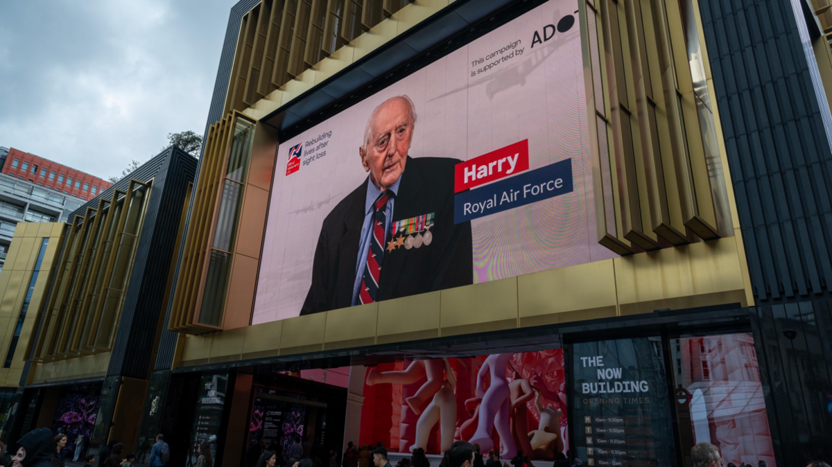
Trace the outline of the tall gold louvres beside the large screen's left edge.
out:
M 210 273 L 218 255 L 230 256 L 231 247 L 225 243 L 233 242 L 226 238 L 225 243 L 219 243 L 217 238 L 225 231 L 218 234 L 217 225 L 236 226 L 236 217 L 229 216 L 232 216 L 230 213 L 234 213 L 233 216 L 239 214 L 234 206 L 238 206 L 245 189 L 250 144 L 240 147 L 235 142 L 240 139 L 241 128 L 250 127 L 253 135 L 255 123 L 255 120 L 233 112 L 210 126 L 168 322 L 171 331 L 210 332 L 221 328 L 221 310 L 225 303 L 214 302 L 214 295 L 206 302 L 204 294 L 206 283 L 213 284 L 210 293 L 225 292 L 224 282 L 211 282 L 215 276 Z M 230 198 L 236 203 L 234 206 L 229 206 Z M 220 295 L 225 297 L 225 293 Z M 219 307 L 219 319 L 206 320 L 202 316 L 206 303 Z

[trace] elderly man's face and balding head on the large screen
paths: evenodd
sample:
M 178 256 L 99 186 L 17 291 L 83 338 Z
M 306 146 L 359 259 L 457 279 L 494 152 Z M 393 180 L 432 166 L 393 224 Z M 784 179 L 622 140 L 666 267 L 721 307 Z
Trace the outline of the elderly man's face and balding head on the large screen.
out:
M 361 164 L 369 172 L 373 184 L 385 190 L 402 176 L 408 160 L 410 140 L 414 134 L 408 102 L 403 98 L 384 102 L 369 126 L 369 141 L 359 148 Z

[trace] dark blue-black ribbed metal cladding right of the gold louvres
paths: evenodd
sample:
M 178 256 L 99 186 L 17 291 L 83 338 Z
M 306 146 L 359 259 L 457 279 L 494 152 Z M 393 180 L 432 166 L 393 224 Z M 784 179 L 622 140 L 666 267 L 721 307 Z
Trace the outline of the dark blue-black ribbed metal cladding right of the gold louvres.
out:
M 829 294 L 832 153 L 792 6 L 699 5 L 755 297 Z

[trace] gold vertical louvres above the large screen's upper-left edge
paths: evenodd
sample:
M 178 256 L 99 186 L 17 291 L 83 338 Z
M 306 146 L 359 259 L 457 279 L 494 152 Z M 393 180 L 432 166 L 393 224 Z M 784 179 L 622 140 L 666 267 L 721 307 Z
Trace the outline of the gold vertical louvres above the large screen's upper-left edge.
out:
M 262 0 L 242 18 L 225 110 L 244 111 L 412 0 Z

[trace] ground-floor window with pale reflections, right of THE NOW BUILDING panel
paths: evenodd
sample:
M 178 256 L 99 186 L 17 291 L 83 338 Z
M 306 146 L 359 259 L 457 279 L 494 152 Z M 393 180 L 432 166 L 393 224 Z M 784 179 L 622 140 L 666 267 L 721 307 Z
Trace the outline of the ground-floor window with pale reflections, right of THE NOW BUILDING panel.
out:
M 775 465 L 754 337 L 681 337 L 670 348 L 682 450 L 708 442 L 726 463 Z

